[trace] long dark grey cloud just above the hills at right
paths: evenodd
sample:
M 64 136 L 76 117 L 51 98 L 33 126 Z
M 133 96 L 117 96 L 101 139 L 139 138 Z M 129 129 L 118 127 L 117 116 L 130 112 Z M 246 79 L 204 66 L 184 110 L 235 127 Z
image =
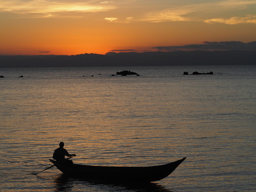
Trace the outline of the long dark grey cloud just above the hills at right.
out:
M 185 46 L 159 46 L 152 47 L 159 51 L 191 51 L 191 50 L 256 50 L 256 41 L 243 43 L 240 41 L 221 41 L 221 42 L 209 42 L 204 41 L 204 44 L 200 45 L 185 45 Z

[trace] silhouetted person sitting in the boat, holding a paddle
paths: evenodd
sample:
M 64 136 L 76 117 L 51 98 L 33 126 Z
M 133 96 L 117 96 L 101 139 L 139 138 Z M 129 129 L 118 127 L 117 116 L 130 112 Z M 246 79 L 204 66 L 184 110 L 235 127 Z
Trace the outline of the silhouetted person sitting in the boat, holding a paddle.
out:
M 61 164 L 66 164 L 66 165 L 72 165 L 73 161 L 65 159 L 65 156 L 76 156 L 76 154 L 69 154 L 66 149 L 64 149 L 64 142 L 60 142 L 60 147 L 58 147 L 54 152 L 53 152 L 53 159 L 58 161 L 58 163 Z

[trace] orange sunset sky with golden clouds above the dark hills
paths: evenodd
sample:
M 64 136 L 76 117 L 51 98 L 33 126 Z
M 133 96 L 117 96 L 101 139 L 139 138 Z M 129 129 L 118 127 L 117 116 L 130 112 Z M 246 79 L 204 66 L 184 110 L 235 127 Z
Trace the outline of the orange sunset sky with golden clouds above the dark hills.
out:
M 0 0 L 0 55 L 255 50 L 254 41 L 256 0 Z

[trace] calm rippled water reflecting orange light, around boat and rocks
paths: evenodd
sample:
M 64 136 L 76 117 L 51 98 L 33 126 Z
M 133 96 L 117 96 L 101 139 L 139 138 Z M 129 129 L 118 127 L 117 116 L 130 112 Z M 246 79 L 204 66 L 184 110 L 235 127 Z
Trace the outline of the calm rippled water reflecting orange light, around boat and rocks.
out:
M 123 70 L 140 76 L 111 76 Z M 0 75 L 1 191 L 256 191 L 256 66 L 1 68 Z M 60 141 L 77 164 L 187 159 L 147 185 L 92 183 L 56 168 L 35 175 L 52 165 Z

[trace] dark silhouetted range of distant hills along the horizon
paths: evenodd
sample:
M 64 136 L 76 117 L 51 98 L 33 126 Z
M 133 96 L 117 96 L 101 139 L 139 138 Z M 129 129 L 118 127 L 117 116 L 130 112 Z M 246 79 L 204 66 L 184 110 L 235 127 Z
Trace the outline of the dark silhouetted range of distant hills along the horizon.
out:
M 0 56 L 0 68 L 256 65 L 256 51 L 109 52 L 105 55 Z

